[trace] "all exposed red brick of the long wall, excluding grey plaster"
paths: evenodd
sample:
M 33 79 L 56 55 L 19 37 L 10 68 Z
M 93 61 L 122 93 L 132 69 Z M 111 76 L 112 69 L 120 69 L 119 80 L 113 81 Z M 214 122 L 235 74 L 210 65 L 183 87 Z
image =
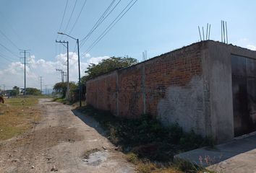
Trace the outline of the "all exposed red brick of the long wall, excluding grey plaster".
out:
M 158 102 L 169 86 L 186 86 L 192 76 L 202 74 L 202 46 L 195 43 L 92 79 L 86 84 L 87 102 L 119 116 L 138 117 L 144 106 L 146 113 L 158 115 Z

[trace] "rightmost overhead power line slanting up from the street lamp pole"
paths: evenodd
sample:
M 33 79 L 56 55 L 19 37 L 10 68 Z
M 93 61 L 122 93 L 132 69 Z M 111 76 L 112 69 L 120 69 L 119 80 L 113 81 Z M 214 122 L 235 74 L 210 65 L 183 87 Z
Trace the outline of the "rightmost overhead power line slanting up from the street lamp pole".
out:
M 132 0 L 132 1 L 134 1 L 134 0 Z M 131 4 L 132 1 L 130 1 L 129 4 Z M 88 53 L 99 41 L 101 41 L 101 39 L 116 25 L 117 22 L 119 22 L 119 20 L 120 20 L 122 17 L 124 17 L 125 14 L 127 14 L 127 12 L 129 11 L 129 9 L 131 9 L 132 6 L 134 6 L 134 4 L 135 4 L 136 2 L 137 2 L 137 0 L 135 0 L 134 3 L 133 3 L 131 6 L 129 6 L 129 4 L 128 4 L 127 6 L 125 6 L 125 8 L 119 13 L 119 15 L 114 19 L 114 21 L 111 22 L 110 25 L 108 25 L 108 27 L 106 28 L 106 30 L 104 30 L 104 31 L 102 32 L 102 34 L 93 42 L 93 44 L 90 45 L 90 47 L 88 48 L 88 50 L 87 50 L 84 54 L 82 54 L 82 56 L 85 56 L 86 53 Z M 128 8 L 128 6 L 129 6 L 129 8 Z M 127 9 L 127 8 L 128 8 L 128 9 Z M 127 10 L 125 11 L 125 9 L 127 9 Z M 124 11 L 125 11 L 125 12 L 124 12 Z M 121 17 L 120 17 L 120 16 L 121 16 Z

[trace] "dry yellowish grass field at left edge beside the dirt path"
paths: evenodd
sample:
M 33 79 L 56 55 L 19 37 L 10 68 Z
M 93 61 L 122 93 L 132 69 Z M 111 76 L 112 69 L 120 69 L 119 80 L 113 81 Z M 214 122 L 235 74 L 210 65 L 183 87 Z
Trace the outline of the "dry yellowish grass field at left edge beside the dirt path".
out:
M 35 105 L 38 98 L 5 99 L 0 104 L 0 141 L 12 138 L 30 129 L 40 120 L 40 110 Z

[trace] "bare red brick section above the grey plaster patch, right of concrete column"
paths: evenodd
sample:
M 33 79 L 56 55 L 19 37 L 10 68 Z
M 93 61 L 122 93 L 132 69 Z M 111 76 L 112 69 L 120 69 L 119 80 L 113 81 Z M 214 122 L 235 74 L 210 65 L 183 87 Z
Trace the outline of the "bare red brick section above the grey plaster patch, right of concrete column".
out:
M 184 86 L 202 74 L 200 44 L 166 53 L 145 62 L 146 112 L 157 115 L 160 99 L 168 86 Z

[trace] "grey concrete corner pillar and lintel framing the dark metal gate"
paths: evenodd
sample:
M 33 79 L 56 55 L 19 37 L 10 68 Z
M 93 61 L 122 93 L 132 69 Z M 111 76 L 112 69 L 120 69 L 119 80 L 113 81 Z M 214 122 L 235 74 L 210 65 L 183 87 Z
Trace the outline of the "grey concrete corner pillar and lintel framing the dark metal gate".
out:
M 208 55 L 202 58 L 209 88 L 208 133 L 218 143 L 234 138 L 231 56 L 256 60 L 256 52 L 234 45 L 208 41 Z

